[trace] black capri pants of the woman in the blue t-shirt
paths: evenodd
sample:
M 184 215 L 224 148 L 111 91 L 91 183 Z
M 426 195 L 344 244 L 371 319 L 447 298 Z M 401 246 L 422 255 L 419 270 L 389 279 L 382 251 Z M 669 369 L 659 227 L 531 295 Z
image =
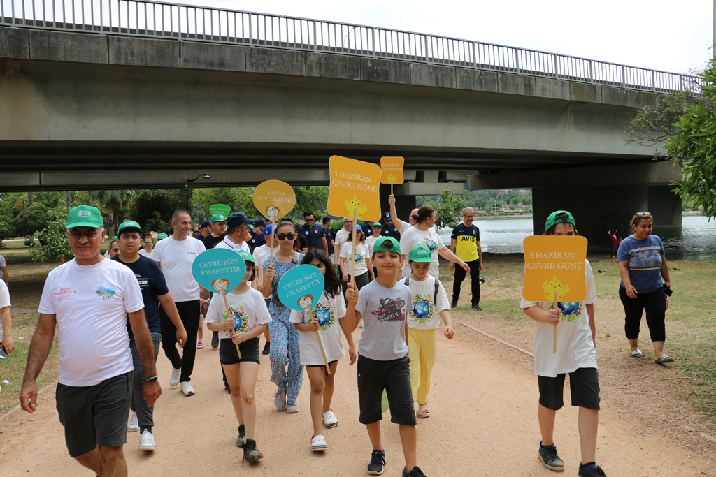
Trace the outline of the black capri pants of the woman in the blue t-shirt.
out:
M 627 289 L 619 287 L 619 298 L 624 305 L 624 333 L 628 340 L 639 338 L 639 326 L 642 323 L 642 313 L 647 311 L 647 326 L 652 341 L 665 341 L 667 338 L 666 318 L 667 302 L 664 287 L 649 293 L 637 293 L 636 298 L 629 298 Z

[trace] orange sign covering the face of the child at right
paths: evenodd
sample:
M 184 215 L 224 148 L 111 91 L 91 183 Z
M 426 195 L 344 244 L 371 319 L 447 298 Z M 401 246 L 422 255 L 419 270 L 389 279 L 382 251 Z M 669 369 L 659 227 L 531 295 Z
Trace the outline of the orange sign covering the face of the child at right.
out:
M 527 237 L 522 243 L 525 300 L 552 302 L 555 293 L 559 302 L 581 302 L 586 298 L 586 238 L 537 235 Z

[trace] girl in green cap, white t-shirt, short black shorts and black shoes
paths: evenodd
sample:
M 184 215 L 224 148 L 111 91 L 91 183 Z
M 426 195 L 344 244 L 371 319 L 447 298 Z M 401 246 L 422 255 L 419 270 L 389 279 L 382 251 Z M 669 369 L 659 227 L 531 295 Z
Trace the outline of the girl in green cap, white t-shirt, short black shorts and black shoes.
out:
M 206 312 L 206 328 L 219 332 L 219 361 L 231 387 L 231 403 L 238 420 L 236 446 L 243 447 L 244 460 L 251 462 L 263 457 L 256 448 L 253 431 L 256 427 L 256 400 L 253 388 L 258 376 L 258 336 L 271 321 L 269 310 L 258 290 L 248 286 L 256 276 L 254 260 L 245 250 L 238 250 L 246 262 L 246 275 L 236 288 L 226 295 L 231 316 L 223 297 L 214 294 Z M 241 351 L 241 358 L 238 357 Z

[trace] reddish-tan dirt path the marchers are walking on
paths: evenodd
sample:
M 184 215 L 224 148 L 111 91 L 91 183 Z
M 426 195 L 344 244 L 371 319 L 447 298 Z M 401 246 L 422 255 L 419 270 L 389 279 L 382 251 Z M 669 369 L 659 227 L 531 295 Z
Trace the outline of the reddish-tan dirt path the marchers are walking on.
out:
M 457 320 L 460 321 L 459 319 Z M 358 330 L 359 331 L 359 330 Z M 356 338 L 358 336 L 356 333 Z M 452 342 L 440 339 L 433 370 L 430 410 L 419 420 L 418 462 L 427 476 L 553 476 L 538 463 L 536 378 L 526 369 L 529 359 L 464 325 L 456 326 Z M 531 347 L 528 347 L 531 349 Z M 154 453 L 138 450 L 138 435 L 127 436 L 125 456 L 130 475 L 234 476 L 363 476 L 370 443 L 358 422 L 354 368 L 339 363 L 333 408 L 340 425 L 326 430 L 329 451 L 311 453 L 309 385 L 299 395 L 299 413 L 289 415 L 273 406 L 270 366 L 262 356 L 257 383 L 256 439 L 265 458 L 241 463 L 234 446 L 236 418 L 223 390 L 218 353 L 210 347 L 197 356 L 192 383 L 196 395 L 185 398 L 168 386 L 170 365 L 160 353 L 164 394 L 155 410 Z M 604 402 L 604 401 L 603 401 Z M 556 442 L 566 462 L 566 476 L 577 473 L 579 438 L 576 409 L 558 413 Z M 644 436 L 614 410 L 601 412 L 597 456 L 609 476 L 714 476 L 712 463 L 687 447 L 658 436 Z M 387 466 L 384 475 L 400 476 L 403 466 L 397 426 L 383 421 Z M 38 412 L 16 410 L 0 421 L 0 456 L 4 476 L 90 476 L 69 458 L 62 426 L 54 409 L 54 388 L 40 395 Z

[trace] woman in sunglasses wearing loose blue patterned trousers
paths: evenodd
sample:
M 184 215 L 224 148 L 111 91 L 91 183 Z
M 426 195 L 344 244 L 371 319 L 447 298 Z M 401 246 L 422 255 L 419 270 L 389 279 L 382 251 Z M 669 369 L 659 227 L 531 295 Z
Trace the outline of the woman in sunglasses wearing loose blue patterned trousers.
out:
M 299 331 L 293 323 L 289 323 L 291 309 L 286 308 L 281 300 L 276 287 L 279 286 L 281 277 L 295 267 L 304 258 L 299 253 L 298 230 L 293 222 L 284 220 L 276 227 L 274 240 L 278 242 L 279 250 L 274 253 L 274 260 L 266 260 L 263 264 L 263 284 L 261 292 L 263 296 L 271 297 L 269 314 L 269 332 L 271 333 L 271 383 L 276 384 L 274 393 L 274 405 L 276 408 L 286 410 L 287 413 L 299 412 L 299 405 L 296 399 L 299 397 L 301 382 L 304 375 L 304 367 L 301 366 L 301 355 L 299 354 Z M 288 366 L 288 370 L 286 370 Z

